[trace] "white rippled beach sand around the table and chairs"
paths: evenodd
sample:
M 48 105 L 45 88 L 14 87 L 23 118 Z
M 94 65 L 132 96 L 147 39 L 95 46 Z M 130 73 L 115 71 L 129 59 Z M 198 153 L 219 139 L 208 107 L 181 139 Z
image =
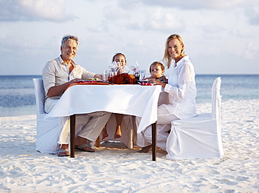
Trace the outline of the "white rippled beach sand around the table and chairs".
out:
M 151 161 L 151 152 L 113 142 L 74 159 L 41 154 L 36 116 L 1 117 L 0 192 L 259 192 L 258 114 L 259 100 L 223 102 L 223 159 L 181 161 L 162 150 Z

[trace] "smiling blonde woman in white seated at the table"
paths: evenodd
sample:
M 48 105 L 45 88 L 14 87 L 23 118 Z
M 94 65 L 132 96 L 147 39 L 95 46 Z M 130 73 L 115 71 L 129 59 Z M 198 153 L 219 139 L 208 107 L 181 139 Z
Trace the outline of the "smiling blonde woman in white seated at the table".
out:
M 165 149 L 171 121 L 195 117 L 196 86 L 195 71 L 189 56 L 185 54 L 183 39 L 179 34 L 172 34 L 167 38 L 163 62 L 167 68 L 172 68 L 168 84 L 158 79 L 149 79 L 153 84 L 160 84 L 169 94 L 169 104 L 158 106 L 158 134 L 157 144 Z M 138 134 L 137 145 L 143 147 L 139 152 L 146 153 L 152 145 L 151 126 Z

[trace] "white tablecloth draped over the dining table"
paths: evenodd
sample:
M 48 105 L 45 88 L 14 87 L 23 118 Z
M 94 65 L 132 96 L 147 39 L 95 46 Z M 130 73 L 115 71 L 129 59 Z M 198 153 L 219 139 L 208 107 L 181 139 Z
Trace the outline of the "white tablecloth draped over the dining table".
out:
M 106 111 L 141 117 L 137 132 L 158 120 L 161 86 L 74 85 L 69 87 L 47 117 Z

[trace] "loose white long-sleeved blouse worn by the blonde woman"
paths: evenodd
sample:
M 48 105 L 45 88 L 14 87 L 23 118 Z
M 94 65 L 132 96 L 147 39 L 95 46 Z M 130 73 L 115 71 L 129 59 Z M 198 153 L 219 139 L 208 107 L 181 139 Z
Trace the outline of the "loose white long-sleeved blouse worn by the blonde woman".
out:
M 169 74 L 165 92 L 169 93 L 169 105 L 165 107 L 171 114 L 175 114 L 179 119 L 197 115 L 195 71 L 189 56 L 176 63 L 176 67 Z

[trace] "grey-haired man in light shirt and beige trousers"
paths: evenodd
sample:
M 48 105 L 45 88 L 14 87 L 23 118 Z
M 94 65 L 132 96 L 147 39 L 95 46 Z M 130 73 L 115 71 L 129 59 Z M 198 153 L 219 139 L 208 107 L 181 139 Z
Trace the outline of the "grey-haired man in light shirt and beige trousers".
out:
M 61 95 L 70 84 L 80 79 L 99 78 L 101 75 L 88 72 L 76 64 L 73 58 L 78 50 L 78 37 L 66 35 L 60 46 L 61 55 L 46 63 L 43 67 L 43 85 L 45 90 L 45 112 L 49 113 L 55 107 Z M 106 122 L 111 117 L 109 112 L 92 112 L 76 116 L 76 149 L 94 152 L 94 142 L 101 133 Z M 69 156 L 69 117 L 59 118 L 59 157 Z

